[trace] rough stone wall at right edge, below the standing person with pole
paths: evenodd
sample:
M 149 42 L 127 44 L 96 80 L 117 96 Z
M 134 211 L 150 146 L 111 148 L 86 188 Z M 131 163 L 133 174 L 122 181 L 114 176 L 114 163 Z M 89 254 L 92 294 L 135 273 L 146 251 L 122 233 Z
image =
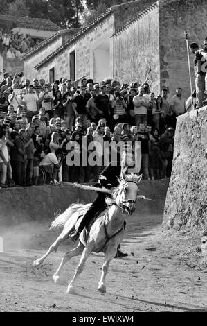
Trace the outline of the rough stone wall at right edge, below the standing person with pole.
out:
M 207 106 L 177 119 L 165 228 L 207 228 Z

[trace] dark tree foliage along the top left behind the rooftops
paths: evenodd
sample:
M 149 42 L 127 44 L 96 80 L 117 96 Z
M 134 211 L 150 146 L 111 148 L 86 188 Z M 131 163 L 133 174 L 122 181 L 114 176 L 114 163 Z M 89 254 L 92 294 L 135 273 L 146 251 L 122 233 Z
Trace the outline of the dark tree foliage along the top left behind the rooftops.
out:
M 62 28 L 88 24 L 107 8 L 129 0 L 0 0 L 1 14 L 51 19 Z

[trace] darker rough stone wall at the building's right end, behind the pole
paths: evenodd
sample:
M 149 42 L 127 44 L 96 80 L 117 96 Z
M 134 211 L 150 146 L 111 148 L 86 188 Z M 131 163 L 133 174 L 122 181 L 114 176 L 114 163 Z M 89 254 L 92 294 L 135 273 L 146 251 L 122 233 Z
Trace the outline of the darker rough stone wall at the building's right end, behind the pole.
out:
M 190 96 L 190 80 L 188 73 L 188 42 L 202 44 L 206 37 L 206 0 L 159 0 L 159 33 L 160 33 L 160 65 L 161 87 L 169 88 L 170 96 L 177 87 L 184 90 L 183 96 Z M 190 54 L 192 88 L 195 89 L 193 55 Z

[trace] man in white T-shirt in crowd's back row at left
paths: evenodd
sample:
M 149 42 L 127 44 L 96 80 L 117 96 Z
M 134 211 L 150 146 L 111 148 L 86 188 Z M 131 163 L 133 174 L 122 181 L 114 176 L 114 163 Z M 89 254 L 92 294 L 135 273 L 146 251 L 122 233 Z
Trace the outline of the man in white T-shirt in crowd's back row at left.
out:
M 29 85 L 28 94 L 24 95 L 23 104 L 26 105 L 27 108 L 27 119 L 28 122 L 32 121 L 32 118 L 38 112 L 39 108 L 39 100 L 37 94 L 34 93 L 33 85 Z

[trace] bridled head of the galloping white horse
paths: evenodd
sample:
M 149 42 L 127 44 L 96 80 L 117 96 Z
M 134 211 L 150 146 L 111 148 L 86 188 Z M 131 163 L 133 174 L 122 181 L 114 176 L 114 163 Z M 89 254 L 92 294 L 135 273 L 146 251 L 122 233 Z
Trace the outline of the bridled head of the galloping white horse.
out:
M 141 181 L 142 175 L 134 173 L 125 175 L 120 178 L 118 195 L 116 196 L 116 205 L 123 209 L 123 213 L 132 214 L 135 209 L 136 196 L 138 194 L 138 182 Z

